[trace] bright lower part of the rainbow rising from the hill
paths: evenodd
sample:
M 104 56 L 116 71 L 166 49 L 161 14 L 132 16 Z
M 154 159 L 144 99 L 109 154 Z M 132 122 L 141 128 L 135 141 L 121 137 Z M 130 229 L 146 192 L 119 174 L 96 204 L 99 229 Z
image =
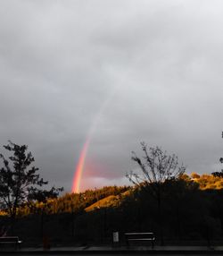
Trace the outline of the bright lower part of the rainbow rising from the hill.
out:
M 78 165 L 76 166 L 76 171 L 73 177 L 73 184 L 72 184 L 72 192 L 79 192 L 80 180 L 85 166 L 85 160 L 87 156 L 87 149 L 90 143 L 90 139 L 84 144 L 83 149 L 80 152 L 80 156 L 78 158 Z

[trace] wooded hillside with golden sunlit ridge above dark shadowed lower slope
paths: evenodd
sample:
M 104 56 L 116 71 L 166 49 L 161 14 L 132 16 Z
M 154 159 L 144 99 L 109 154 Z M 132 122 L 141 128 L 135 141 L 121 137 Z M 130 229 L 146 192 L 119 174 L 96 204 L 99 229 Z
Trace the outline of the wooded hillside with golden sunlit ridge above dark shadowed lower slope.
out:
M 120 243 L 127 231 L 153 231 L 157 243 L 161 235 L 164 243 L 218 243 L 223 234 L 222 181 L 196 174 L 165 181 L 161 214 L 150 187 L 143 185 L 67 193 L 37 203 L 36 208 L 20 209 L 14 232 L 34 244 L 45 236 L 54 245 L 111 243 L 114 231 L 120 232 Z M 91 205 L 95 207 L 86 210 Z M 5 224 L 6 219 L 2 217 L 1 222 Z

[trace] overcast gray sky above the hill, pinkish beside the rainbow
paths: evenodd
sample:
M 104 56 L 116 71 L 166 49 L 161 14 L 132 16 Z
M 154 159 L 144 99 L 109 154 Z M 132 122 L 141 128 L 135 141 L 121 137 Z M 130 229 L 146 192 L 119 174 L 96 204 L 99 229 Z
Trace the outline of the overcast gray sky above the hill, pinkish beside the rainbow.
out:
M 140 141 L 220 169 L 222 1 L 1 1 L 0 141 L 28 144 L 70 191 L 128 183 Z

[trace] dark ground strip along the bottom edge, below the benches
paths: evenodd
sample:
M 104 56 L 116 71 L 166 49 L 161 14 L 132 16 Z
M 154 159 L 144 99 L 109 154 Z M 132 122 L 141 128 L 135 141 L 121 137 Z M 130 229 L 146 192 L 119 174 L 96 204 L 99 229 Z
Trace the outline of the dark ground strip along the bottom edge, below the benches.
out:
M 154 249 L 145 246 L 136 247 L 60 247 L 43 250 L 43 248 L 21 248 L 12 250 L 12 248 L 0 248 L 1 255 L 100 255 L 107 256 L 111 254 L 118 255 L 223 255 L 222 246 L 156 246 Z

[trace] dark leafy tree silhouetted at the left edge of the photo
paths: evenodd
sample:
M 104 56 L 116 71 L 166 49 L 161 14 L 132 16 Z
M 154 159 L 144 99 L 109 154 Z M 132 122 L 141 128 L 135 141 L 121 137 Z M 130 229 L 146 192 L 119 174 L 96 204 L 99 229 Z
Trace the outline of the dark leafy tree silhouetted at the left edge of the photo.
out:
M 16 218 L 17 209 L 24 204 L 45 201 L 62 192 L 62 188 L 42 189 L 48 182 L 37 174 L 37 167 L 31 166 L 35 160 L 31 152 L 27 152 L 27 145 L 20 146 L 9 141 L 4 149 L 12 152 L 12 155 L 6 159 L 0 154 L 4 164 L 0 168 L 0 206 L 10 218 Z

